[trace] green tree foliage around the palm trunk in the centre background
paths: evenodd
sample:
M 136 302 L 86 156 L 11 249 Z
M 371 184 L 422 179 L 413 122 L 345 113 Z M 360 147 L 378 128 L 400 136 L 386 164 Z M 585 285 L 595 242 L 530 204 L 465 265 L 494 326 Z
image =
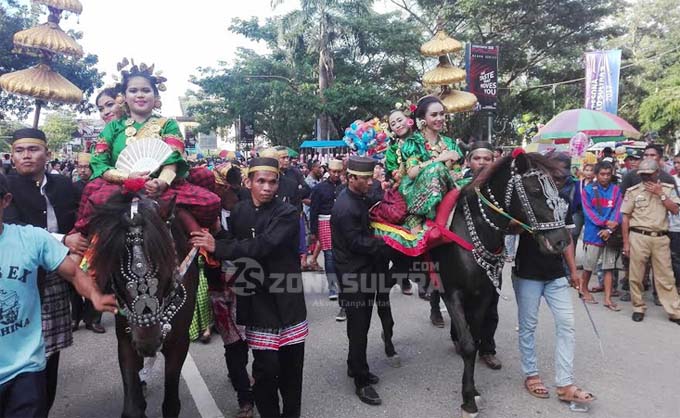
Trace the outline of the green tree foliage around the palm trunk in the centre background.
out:
M 397 101 L 418 97 L 420 32 L 397 13 L 362 13 L 350 9 L 335 23 L 344 29 L 332 36 L 334 78 L 323 97 L 319 55 L 310 53 L 316 35 L 302 31 L 293 40 L 293 29 L 302 28 L 285 24 L 290 15 L 262 25 L 255 18 L 234 20 L 233 32 L 266 42 L 271 53 L 240 49 L 233 65 L 199 69 L 192 79 L 201 88 L 194 93 L 199 104 L 191 111 L 201 129 L 230 126 L 239 116 L 252 118 L 256 134 L 296 147 L 314 137 L 320 115 L 328 115 L 342 131 L 356 119 L 384 115 Z

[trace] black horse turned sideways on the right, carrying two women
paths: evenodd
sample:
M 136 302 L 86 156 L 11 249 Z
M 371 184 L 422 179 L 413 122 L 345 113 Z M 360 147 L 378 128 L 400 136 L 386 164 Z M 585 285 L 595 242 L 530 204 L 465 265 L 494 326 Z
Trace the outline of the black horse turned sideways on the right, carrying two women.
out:
M 464 416 L 478 413 L 475 359 L 484 314 L 499 287 L 509 218 L 534 234 L 542 252 L 561 253 L 570 243 L 564 228 L 566 203 L 551 178 L 557 172 L 552 161 L 534 153 L 505 157 L 487 167 L 461 191 L 449 228 L 472 244 L 472 251 L 457 244 L 430 251 L 451 316 L 452 335 L 458 337 L 465 363 Z

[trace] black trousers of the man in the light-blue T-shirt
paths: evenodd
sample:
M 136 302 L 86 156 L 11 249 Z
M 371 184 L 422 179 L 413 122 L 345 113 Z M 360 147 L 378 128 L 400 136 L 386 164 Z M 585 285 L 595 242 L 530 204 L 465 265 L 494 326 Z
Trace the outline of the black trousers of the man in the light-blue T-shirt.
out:
M 21 373 L 0 385 L 0 417 L 44 418 L 47 416 L 45 371 Z

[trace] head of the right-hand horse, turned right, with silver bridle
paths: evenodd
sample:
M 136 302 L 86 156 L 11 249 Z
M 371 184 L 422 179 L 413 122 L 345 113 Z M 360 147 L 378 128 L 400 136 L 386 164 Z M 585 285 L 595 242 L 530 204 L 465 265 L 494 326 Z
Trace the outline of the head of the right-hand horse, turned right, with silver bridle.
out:
M 570 242 L 564 227 L 568 203 L 559 195 L 553 175 L 559 168 L 538 153 L 510 157 L 509 188 L 514 193 L 510 213 L 528 225 L 534 233 L 539 249 L 545 254 L 562 253 Z

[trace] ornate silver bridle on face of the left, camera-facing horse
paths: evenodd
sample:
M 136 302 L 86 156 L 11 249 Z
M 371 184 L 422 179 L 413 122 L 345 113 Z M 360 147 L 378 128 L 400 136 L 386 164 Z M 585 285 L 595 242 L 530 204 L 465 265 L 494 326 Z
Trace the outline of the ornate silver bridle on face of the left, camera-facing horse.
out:
M 138 215 L 139 200 L 135 198 L 130 206 L 130 219 Z M 131 226 L 125 234 L 127 256 L 121 257 L 120 273 L 126 280 L 125 291 L 132 297 L 127 303 L 123 292 L 113 280 L 113 290 L 119 301 L 119 312 L 127 317 L 130 325 L 151 327 L 160 324 L 162 338 L 172 330 L 172 318 L 186 302 L 184 285 L 173 278 L 172 289 L 165 297 L 158 295 L 158 267 L 144 254 L 144 231 L 141 226 Z

